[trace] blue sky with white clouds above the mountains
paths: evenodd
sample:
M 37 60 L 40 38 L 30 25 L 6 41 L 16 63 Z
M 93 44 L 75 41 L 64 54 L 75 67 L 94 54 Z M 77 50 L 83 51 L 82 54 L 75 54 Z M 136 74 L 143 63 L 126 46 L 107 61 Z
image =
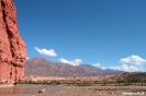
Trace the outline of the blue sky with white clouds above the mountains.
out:
M 13 0 L 27 57 L 146 71 L 145 0 Z

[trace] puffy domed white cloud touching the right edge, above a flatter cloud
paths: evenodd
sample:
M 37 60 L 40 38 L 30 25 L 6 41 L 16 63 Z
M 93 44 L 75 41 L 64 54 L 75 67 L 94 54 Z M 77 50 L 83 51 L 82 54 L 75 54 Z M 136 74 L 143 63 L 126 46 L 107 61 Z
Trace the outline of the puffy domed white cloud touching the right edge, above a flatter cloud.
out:
M 120 62 L 123 64 L 131 63 L 131 64 L 142 65 L 142 64 L 146 63 L 146 60 L 141 58 L 139 56 L 132 55 L 131 57 L 121 59 Z

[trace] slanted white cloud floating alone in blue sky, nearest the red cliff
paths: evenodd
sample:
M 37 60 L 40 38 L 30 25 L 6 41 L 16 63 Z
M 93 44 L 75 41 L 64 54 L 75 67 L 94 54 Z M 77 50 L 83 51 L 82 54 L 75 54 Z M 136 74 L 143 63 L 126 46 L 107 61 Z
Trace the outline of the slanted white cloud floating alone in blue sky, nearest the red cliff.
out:
M 40 49 L 37 47 L 34 47 L 34 48 L 41 55 L 48 56 L 48 57 L 56 57 L 57 56 L 56 52 L 54 51 L 54 49 L 47 50 L 47 49 Z

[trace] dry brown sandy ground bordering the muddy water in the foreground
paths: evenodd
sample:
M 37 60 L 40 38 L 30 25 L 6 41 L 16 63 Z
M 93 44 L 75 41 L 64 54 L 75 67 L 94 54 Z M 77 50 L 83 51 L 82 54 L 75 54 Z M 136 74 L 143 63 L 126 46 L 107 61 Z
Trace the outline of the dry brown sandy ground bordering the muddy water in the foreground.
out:
M 0 96 L 146 96 L 146 86 L 68 86 L 65 91 L 53 93 Z

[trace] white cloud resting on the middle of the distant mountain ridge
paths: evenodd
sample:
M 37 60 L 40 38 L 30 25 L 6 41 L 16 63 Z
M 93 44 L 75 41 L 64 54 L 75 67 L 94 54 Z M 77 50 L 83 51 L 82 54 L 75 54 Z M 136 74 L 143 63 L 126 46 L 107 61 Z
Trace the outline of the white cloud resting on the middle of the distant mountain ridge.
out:
M 71 65 L 79 65 L 82 61 L 81 59 L 75 59 L 74 61 L 69 61 L 69 60 L 66 60 L 64 58 L 60 58 L 58 60 L 59 60 L 59 62 L 68 63 L 68 64 L 71 64 Z

